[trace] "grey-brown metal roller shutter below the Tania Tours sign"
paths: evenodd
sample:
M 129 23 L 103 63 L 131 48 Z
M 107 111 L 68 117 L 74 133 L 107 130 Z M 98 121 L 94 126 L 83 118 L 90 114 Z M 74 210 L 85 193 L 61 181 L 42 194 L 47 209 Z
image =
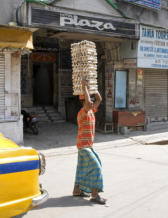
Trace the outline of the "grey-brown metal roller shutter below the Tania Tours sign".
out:
M 144 71 L 145 112 L 151 121 L 167 120 L 168 73 L 165 70 Z

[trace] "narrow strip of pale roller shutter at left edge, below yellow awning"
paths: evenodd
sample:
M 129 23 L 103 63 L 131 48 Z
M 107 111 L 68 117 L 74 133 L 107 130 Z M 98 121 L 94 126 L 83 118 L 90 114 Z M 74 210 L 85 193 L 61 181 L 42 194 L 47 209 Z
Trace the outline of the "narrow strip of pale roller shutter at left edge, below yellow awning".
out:
M 5 116 L 5 56 L 0 54 L 0 119 Z

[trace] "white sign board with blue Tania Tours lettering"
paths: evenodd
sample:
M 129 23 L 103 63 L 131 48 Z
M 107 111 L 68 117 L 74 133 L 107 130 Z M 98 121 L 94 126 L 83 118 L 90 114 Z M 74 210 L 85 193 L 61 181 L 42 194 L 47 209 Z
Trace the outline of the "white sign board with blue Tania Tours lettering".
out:
M 140 26 L 137 67 L 168 69 L 168 30 Z

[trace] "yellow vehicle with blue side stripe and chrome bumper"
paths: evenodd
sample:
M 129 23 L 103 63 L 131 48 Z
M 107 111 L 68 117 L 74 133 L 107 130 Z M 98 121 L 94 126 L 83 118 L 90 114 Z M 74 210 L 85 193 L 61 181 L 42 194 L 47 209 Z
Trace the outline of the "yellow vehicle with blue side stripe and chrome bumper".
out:
M 44 155 L 0 134 L 0 218 L 23 214 L 48 199 L 39 184 L 44 171 Z

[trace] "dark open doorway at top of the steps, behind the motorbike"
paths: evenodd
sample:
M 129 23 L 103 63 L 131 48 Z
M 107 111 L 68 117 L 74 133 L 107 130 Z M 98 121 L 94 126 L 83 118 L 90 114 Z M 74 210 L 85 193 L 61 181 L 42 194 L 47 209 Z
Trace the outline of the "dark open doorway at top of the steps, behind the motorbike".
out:
M 33 64 L 33 104 L 53 105 L 53 64 Z

